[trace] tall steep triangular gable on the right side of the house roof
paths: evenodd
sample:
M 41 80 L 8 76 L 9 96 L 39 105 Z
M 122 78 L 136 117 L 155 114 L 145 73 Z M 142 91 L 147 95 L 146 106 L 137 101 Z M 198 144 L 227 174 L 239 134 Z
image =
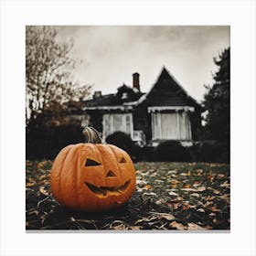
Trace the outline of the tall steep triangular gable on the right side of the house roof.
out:
M 135 105 L 146 106 L 200 106 L 196 100 L 165 69 L 162 69 L 152 89 Z

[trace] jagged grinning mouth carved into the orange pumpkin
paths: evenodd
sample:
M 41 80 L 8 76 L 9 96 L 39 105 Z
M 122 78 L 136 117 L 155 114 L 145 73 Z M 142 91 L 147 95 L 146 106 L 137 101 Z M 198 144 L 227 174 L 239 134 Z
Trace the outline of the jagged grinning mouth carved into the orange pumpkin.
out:
M 91 192 L 93 192 L 98 197 L 107 197 L 109 195 L 121 195 L 124 193 L 129 184 L 131 179 L 127 180 L 122 186 L 120 187 L 96 187 L 91 185 L 88 182 L 85 182 L 85 185 L 90 188 Z

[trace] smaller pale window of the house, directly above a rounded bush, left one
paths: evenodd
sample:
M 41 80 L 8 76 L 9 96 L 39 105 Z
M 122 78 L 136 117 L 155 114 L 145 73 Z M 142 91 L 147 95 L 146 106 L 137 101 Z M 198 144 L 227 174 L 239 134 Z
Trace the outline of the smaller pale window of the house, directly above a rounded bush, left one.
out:
M 103 114 L 103 140 L 114 132 L 128 133 L 133 138 L 132 113 L 106 113 Z

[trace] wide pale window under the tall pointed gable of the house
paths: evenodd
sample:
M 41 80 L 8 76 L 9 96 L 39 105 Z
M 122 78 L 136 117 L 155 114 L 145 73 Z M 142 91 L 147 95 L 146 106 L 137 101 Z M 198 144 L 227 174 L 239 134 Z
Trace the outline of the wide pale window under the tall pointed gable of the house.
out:
M 154 112 L 152 117 L 152 139 L 191 140 L 191 125 L 187 112 Z

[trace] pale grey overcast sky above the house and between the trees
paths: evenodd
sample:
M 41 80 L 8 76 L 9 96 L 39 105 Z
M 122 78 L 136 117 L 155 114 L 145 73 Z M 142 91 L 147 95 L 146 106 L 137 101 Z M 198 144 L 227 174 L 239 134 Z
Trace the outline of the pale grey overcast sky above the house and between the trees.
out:
M 93 84 L 93 91 L 115 93 L 132 85 L 140 74 L 147 92 L 165 68 L 189 95 L 203 99 L 204 84 L 212 83 L 213 57 L 229 47 L 227 26 L 62 26 L 59 40 L 74 40 L 70 55 L 83 62 L 77 80 Z

